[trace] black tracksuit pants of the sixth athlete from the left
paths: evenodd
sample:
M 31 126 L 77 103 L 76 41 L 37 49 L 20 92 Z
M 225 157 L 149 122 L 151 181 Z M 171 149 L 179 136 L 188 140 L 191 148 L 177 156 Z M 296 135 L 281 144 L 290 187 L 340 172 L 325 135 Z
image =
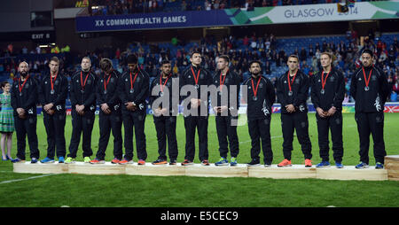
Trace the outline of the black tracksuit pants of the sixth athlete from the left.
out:
M 169 159 L 176 160 L 178 155 L 176 140 L 176 116 L 153 116 L 153 123 L 157 131 L 158 159 L 167 159 L 166 146 L 168 138 Z

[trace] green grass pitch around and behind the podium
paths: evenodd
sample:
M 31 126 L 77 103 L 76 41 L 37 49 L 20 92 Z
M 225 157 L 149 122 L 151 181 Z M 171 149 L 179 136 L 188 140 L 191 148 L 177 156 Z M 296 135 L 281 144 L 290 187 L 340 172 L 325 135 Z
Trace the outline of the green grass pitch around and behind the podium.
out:
M 246 120 L 245 115 L 241 120 Z M 358 134 L 353 113 L 343 114 L 343 141 L 345 166 L 359 161 Z M 399 154 L 397 130 L 399 113 L 385 113 L 384 138 L 387 155 Z M 66 147 L 71 136 L 71 117 L 66 121 Z M 178 162 L 184 159 L 184 120 L 177 120 Z M 273 164 L 283 159 L 280 114 L 271 120 L 271 142 L 274 153 Z M 250 137 L 247 125 L 238 128 L 239 163 L 250 161 Z M 47 141 L 43 117 L 37 120 L 37 134 L 41 159 L 46 155 Z M 147 115 L 145 122 L 147 163 L 158 157 L 153 116 Z M 317 125 L 314 113 L 309 113 L 309 135 L 312 142 L 313 163 L 320 161 L 317 144 Z M 94 159 L 98 150 L 98 118 L 93 129 L 91 147 Z M 372 140 L 372 138 L 371 138 Z M 12 157 L 16 154 L 16 136 L 13 135 Z M 198 137 L 196 137 L 198 159 Z M 113 159 L 113 137 L 106 150 L 106 160 Z M 135 145 L 135 144 L 134 144 Z M 82 146 L 82 142 L 81 145 Z M 28 145 L 27 145 L 28 147 Z M 135 146 L 136 147 L 136 146 Z M 331 147 L 331 144 L 330 144 Z M 293 164 L 303 164 L 301 146 L 296 137 L 293 141 Z M 220 158 L 215 131 L 215 117 L 209 117 L 208 126 L 209 161 Z M 68 151 L 66 151 L 68 152 Z M 137 161 L 136 149 L 134 160 Z M 370 164 L 375 161 L 370 147 Z M 229 156 L 230 158 L 230 156 Z M 27 151 L 27 160 L 30 160 Z M 77 160 L 82 160 L 82 148 Z M 332 151 L 330 153 L 332 162 Z M 261 153 L 262 161 L 262 153 Z M 180 166 L 178 166 L 180 167 Z M 160 168 L 161 169 L 161 168 Z M 316 179 L 274 180 L 264 178 L 201 178 L 185 176 L 153 177 L 140 175 L 50 175 L 32 180 L 9 182 L 36 175 L 12 173 L 10 161 L 0 162 L 0 206 L 399 206 L 399 182 L 383 181 L 327 181 Z M 119 199 L 123 199 L 120 201 Z M 137 201 L 139 199 L 139 201 Z M 187 200 L 189 199 L 189 200 Z M 220 201 L 224 199 L 223 201 Z

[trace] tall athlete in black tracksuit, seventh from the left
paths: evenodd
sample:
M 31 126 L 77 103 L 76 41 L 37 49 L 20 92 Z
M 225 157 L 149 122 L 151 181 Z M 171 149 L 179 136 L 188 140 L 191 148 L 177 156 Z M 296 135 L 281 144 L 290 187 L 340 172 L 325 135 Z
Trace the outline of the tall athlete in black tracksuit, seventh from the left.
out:
M 194 55 L 198 55 L 199 53 L 194 53 Z M 192 85 L 194 87 L 198 87 L 198 97 L 190 98 L 185 97 L 184 93 L 182 93 L 182 89 L 180 89 L 180 96 L 182 100 L 185 102 L 190 102 L 192 99 L 200 99 L 201 88 L 206 87 L 212 83 L 212 75 L 207 71 L 207 69 L 203 68 L 199 65 L 189 66 L 184 70 L 183 74 L 180 77 L 180 85 L 183 87 L 184 85 Z M 198 86 L 196 86 L 198 85 Z M 202 86 L 202 87 L 201 87 Z M 190 95 L 193 95 L 190 93 Z M 205 95 L 205 94 L 204 94 Z M 195 128 L 198 128 L 199 135 L 199 158 L 204 166 L 208 166 L 208 149 L 207 149 L 207 122 L 208 122 L 208 112 L 207 112 L 207 100 L 209 95 L 206 94 L 200 102 L 200 106 L 197 109 L 192 109 L 191 104 L 189 103 L 187 107 L 184 107 L 184 128 L 185 128 L 185 156 L 184 162 L 182 166 L 191 165 L 195 156 Z M 185 104 L 184 104 L 185 105 Z M 205 114 L 201 114 L 200 111 L 205 112 Z M 192 115 L 189 111 L 196 111 L 196 115 Z

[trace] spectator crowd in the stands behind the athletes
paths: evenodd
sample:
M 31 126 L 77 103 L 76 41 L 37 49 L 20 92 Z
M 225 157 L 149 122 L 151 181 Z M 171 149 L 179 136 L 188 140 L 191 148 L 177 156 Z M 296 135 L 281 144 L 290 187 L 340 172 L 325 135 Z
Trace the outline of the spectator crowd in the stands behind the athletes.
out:
M 296 54 L 301 60 L 301 70 L 305 74 L 315 74 L 320 68 L 320 53 L 324 51 L 331 52 L 335 56 L 334 66 L 336 66 L 344 74 L 347 81 L 347 93 L 348 87 L 350 86 L 350 76 L 356 70 L 357 67 L 361 66 L 359 59 L 359 52 L 365 49 L 374 50 L 376 57 L 376 65 L 381 67 L 387 74 L 387 79 L 393 87 L 393 93 L 390 101 L 397 101 L 399 95 L 399 43 L 395 37 L 393 43 L 384 43 L 381 40 L 376 39 L 373 34 L 364 39 L 363 46 L 358 43 L 358 38 L 355 35 L 348 36 L 348 42 L 335 43 L 315 43 L 309 46 L 304 46 L 301 49 L 295 49 L 293 52 L 286 52 L 278 47 L 278 39 L 274 35 L 263 35 L 259 36 L 252 34 L 245 36 L 243 39 L 238 39 L 234 36 L 223 38 L 223 40 L 217 42 L 215 37 L 208 36 L 202 38 L 199 43 L 182 43 L 182 41 L 174 42 L 176 45 L 172 48 L 162 48 L 158 44 L 155 44 L 153 48 L 144 48 L 145 43 L 129 43 L 128 47 L 124 50 L 120 48 L 114 49 L 112 46 L 105 46 L 98 48 L 92 52 L 87 51 L 85 54 L 76 55 L 74 57 L 66 58 L 61 56 L 64 64 L 61 65 L 66 74 L 72 74 L 80 65 L 79 59 L 84 55 L 89 56 L 92 60 L 93 71 L 96 74 L 100 73 L 98 62 L 101 58 L 114 58 L 117 59 L 115 62 L 115 68 L 123 72 L 127 70 L 127 66 L 124 61 L 129 53 L 136 53 L 138 57 L 138 63 L 142 69 L 150 74 L 151 77 L 155 77 L 159 73 L 160 61 L 168 59 L 172 62 L 172 70 L 175 74 L 181 73 L 186 66 L 190 65 L 189 53 L 192 50 L 199 50 L 203 56 L 203 66 L 209 71 L 215 71 L 216 60 L 220 55 L 228 55 L 231 58 L 231 68 L 239 73 L 243 74 L 246 78 L 248 74 L 248 63 L 251 60 L 260 60 L 264 64 L 262 66 L 263 74 L 270 78 L 275 83 L 278 76 L 276 68 L 285 68 L 287 56 Z M 186 46 L 192 46 L 186 48 Z M 13 56 L 24 53 L 51 53 L 52 50 L 37 51 L 27 50 L 23 48 L 21 50 L 13 50 L 10 52 L 8 49 L 1 53 L 0 57 Z M 49 57 L 50 58 L 50 57 Z M 0 61 L 1 62 L 1 61 Z M 311 62 L 311 63 L 309 63 Z M 15 74 L 19 62 L 14 61 L 12 58 L 6 59 L 5 63 L 0 63 L 0 74 L 10 73 Z M 47 69 L 46 64 L 48 59 L 28 61 L 31 66 L 31 73 L 41 73 Z M 272 69 L 272 67 L 274 69 Z M 349 96 L 349 93 L 348 93 Z M 348 97 L 348 101 L 351 99 Z

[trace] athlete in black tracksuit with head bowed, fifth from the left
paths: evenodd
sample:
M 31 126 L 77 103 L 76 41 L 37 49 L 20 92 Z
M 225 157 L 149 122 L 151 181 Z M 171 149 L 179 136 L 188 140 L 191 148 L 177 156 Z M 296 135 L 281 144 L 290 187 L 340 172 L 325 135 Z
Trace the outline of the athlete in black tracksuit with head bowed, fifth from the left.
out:
M 129 59 L 128 64 L 137 65 L 137 58 Z M 145 144 L 146 102 L 150 89 L 148 74 L 137 66 L 121 75 L 118 83 L 118 95 L 121 99 L 121 113 L 125 129 L 125 156 L 121 164 L 131 163 L 133 159 L 133 127 L 135 128 L 137 159 L 145 163 L 147 151 Z M 128 105 L 133 105 L 129 110 Z M 139 163 L 141 165 L 141 163 Z

